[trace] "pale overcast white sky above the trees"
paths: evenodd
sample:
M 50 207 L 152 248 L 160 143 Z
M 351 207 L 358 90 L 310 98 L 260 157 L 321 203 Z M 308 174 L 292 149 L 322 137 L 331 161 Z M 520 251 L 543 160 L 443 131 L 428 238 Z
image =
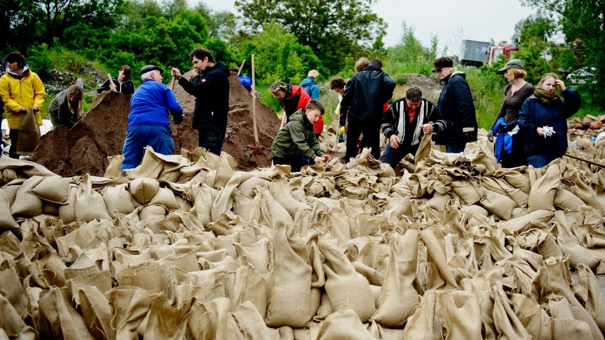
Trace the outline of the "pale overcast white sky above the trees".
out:
M 195 0 L 189 0 L 195 2 Z M 292 0 L 304 1 L 304 0 Z M 235 0 L 204 0 L 213 10 L 235 12 Z M 448 45 L 448 54 L 454 52 L 462 30 L 462 39 L 487 41 L 494 39 L 511 42 L 515 24 L 534 14 L 535 10 L 523 7 L 519 0 L 379 0 L 373 11 L 388 23 L 387 46 L 397 44 L 401 38 L 401 22 L 415 27 L 415 36 L 428 47 L 431 34 L 439 38 L 439 53 Z M 458 42 L 456 42 L 458 41 Z

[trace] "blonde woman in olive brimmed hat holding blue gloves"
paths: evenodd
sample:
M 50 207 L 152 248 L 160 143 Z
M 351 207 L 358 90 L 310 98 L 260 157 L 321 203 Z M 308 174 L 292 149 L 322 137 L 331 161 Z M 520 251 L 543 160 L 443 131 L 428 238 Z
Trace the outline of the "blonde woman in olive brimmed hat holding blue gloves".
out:
M 523 60 L 509 60 L 498 73 L 504 73 L 508 85 L 504 88 L 502 108 L 489 129 L 488 140 L 492 142 L 494 135 L 497 136 L 494 145 L 496 159 L 502 168 L 514 168 L 526 165 L 525 143 L 522 134 L 517 133 L 519 110 L 525 99 L 534 93 L 534 87 L 524 79 L 527 72 Z

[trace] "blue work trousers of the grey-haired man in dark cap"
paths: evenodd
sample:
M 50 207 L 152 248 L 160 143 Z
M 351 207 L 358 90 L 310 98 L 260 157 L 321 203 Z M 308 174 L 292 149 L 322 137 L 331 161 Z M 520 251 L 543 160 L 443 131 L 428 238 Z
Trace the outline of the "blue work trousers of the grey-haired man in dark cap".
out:
M 135 124 L 126 129 L 126 140 L 122 148 L 124 162 L 122 170 L 139 166 L 143 160 L 145 146 L 163 155 L 174 154 L 174 140 L 169 126 L 156 124 Z

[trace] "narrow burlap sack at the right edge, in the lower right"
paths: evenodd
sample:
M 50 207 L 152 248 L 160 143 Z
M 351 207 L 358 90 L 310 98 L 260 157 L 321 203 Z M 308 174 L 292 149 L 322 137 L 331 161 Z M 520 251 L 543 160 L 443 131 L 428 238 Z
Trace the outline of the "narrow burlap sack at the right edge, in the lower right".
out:
M 576 268 L 578 270 L 578 288 L 575 290 L 575 296 L 597 322 L 601 333 L 605 333 L 605 301 L 597 278 L 584 264 L 580 263 Z

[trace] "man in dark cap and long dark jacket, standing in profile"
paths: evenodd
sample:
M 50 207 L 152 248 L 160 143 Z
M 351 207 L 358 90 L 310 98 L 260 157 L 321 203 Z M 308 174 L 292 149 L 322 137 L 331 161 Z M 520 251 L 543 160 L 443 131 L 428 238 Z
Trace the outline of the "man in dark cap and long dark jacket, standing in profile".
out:
M 448 57 L 433 63 L 433 72 L 443 81 L 437 102 L 437 121 L 422 126 L 424 133 L 436 133 L 435 143 L 445 145 L 446 152 L 463 152 L 467 142 L 477 140 L 477 117 L 466 74 L 454 68 Z

